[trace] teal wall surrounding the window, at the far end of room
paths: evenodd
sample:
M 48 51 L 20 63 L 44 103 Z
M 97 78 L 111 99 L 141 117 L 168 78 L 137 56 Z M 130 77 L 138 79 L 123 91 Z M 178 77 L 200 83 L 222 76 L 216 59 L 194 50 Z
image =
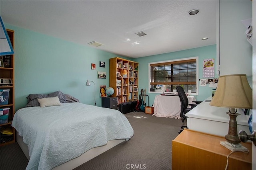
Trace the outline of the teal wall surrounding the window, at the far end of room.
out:
M 198 57 L 199 59 L 199 78 L 203 78 L 203 60 L 204 59 L 214 59 L 215 61 L 215 70 L 217 69 L 216 64 L 216 45 L 210 45 L 200 48 L 188 49 L 183 51 L 176 51 L 172 53 L 165 53 L 160 55 L 152 55 L 147 57 L 141 57 L 134 59 L 134 61 L 139 63 L 139 89 L 146 88 L 147 94 L 149 96 L 149 106 L 152 106 L 154 103 L 155 93 L 150 93 L 148 90 L 148 63 L 157 62 L 157 61 L 167 61 L 173 59 L 182 59 L 188 57 Z M 215 71 L 215 78 L 218 78 Z M 212 89 L 208 85 L 199 86 L 199 94 L 195 96 L 197 101 L 202 101 L 209 96 L 211 96 Z M 147 102 L 147 100 L 146 100 Z

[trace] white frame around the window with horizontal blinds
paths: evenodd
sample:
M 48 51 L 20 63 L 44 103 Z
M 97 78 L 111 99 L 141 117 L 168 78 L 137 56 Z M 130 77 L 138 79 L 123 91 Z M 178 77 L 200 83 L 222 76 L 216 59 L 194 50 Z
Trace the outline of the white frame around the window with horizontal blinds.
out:
M 158 64 L 158 63 L 168 63 L 168 62 L 176 62 L 176 61 L 184 61 L 184 60 L 191 60 L 191 59 L 196 59 L 196 92 L 192 92 L 192 93 L 188 93 L 188 94 L 191 94 L 191 95 L 198 95 L 199 94 L 199 57 L 196 56 L 196 57 L 188 57 L 188 58 L 182 58 L 182 59 L 173 59 L 173 60 L 166 60 L 166 61 L 157 61 L 157 62 L 151 62 L 151 63 L 148 63 L 148 93 L 156 93 L 156 94 L 161 94 L 163 92 L 151 92 L 150 91 L 150 88 L 151 88 L 151 85 L 150 85 L 150 64 Z

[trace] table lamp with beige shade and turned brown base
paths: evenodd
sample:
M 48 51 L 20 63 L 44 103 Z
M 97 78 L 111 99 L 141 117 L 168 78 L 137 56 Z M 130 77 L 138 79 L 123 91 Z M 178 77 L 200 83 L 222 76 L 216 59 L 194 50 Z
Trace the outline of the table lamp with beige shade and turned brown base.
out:
M 240 144 L 236 122 L 236 117 L 240 115 L 236 113 L 237 108 L 252 108 L 252 89 L 247 81 L 246 74 L 220 76 L 210 105 L 229 108 L 229 112 L 227 112 L 230 117 L 228 134 L 225 135 L 227 141 L 221 141 L 220 144 L 232 151 L 236 149 L 247 151 Z

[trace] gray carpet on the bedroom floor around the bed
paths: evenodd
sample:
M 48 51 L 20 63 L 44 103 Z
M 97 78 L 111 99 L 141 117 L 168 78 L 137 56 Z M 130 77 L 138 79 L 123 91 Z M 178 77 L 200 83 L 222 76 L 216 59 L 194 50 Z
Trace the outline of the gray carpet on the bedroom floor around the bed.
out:
M 75 170 L 171 170 L 172 139 L 184 123 L 180 119 L 155 117 L 142 112 L 125 116 L 134 129 L 134 136 Z M 1 147 L 1 170 L 24 170 L 27 163 L 17 143 Z

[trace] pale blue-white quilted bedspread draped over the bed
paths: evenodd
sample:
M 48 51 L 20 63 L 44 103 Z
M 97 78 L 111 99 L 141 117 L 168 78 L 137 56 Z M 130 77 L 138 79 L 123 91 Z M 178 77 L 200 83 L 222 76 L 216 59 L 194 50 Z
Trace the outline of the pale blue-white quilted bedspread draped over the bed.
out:
M 81 103 L 19 109 L 12 126 L 28 145 L 27 170 L 50 170 L 114 139 L 130 139 L 133 129 L 117 110 Z

